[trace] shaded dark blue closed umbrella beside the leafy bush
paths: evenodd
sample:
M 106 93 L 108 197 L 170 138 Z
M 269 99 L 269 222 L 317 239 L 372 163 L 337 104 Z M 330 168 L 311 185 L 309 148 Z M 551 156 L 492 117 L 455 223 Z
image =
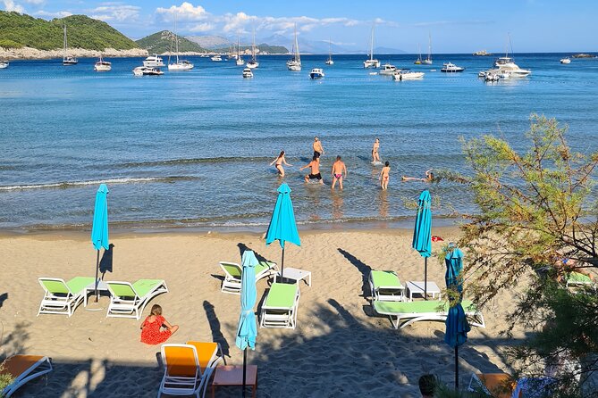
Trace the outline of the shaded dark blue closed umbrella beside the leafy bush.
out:
M 446 264 L 446 287 L 451 290 L 449 302 L 451 308 L 446 318 L 444 342 L 455 349 L 455 388 L 459 389 L 459 345 L 467 341 L 467 332 L 471 330 L 461 305 L 463 283 L 460 276 L 463 269 L 463 253 L 454 245 L 449 245 L 449 253 L 444 257 Z

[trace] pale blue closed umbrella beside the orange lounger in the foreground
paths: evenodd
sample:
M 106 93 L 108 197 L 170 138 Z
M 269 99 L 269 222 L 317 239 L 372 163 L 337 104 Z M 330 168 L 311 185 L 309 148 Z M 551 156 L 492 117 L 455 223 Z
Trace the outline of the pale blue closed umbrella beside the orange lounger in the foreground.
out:
M 243 350 L 243 397 L 245 396 L 247 349 L 256 349 L 257 325 L 253 306 L 256 305 L 256 254 L 251 250 L 243 252 L 243 268 L 240 281 L 240 317 L 235 344 Z

